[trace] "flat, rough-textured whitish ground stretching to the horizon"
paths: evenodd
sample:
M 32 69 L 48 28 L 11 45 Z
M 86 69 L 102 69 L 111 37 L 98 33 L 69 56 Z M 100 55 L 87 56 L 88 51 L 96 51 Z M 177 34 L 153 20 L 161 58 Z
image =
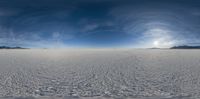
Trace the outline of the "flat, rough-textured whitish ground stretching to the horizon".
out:
M 0 99 L 200 99 L 200 50 L 0 50 Z

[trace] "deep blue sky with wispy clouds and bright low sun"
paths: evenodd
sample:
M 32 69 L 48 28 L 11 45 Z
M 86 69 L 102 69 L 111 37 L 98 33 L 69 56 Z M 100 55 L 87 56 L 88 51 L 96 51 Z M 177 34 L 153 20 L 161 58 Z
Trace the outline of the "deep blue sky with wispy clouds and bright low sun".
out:
M 200 45 L 200 0 L 0 0 L 1 45 Z

